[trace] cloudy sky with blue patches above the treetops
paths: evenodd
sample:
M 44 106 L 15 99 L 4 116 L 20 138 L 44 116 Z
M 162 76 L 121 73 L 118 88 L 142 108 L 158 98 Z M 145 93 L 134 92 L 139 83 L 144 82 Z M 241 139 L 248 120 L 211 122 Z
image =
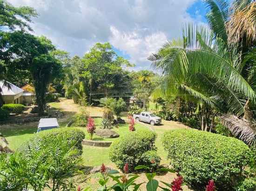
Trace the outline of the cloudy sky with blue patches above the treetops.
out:
M 147 57 L 181 36 L 182 25 L 206 23 L 202 0 L 7 1 L 34 7 L 34 35 L 46 36 L 58 49 L 82 57 L 96 42 L 109 42 L 135 70 L 150 69 Z

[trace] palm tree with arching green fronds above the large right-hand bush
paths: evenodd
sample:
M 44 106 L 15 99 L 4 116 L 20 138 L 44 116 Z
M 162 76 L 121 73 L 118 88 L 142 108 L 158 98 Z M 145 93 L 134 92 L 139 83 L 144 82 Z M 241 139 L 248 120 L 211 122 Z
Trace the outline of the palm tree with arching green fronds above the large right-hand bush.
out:
M 222 31 L 220 26 L 214 27 Z M 148 58 L 164 75 L 159 92 L 198 103 L 203 130 L 207 129 L 204 117 L 209 108 L 225 116 L 243 115 L 246 101 L 255 102 L 256 93 L 235 67 L 240 56 L 236 48 L 227 48 L 225 34 L 219 35 L 203 26 L 190 24 L 182 31 L 182 38 L 168 42 Z M 251 144 L 250 137 L 240 138 Z

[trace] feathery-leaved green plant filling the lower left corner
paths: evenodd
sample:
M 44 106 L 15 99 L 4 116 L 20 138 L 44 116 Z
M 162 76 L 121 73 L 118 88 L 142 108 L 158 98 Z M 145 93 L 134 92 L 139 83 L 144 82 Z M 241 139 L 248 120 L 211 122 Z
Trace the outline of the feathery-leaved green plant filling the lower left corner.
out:
M 71 178 L 82 159 L 75 141 L 62 138 L 51 136 L 50 144 L 34 139 L 24 150 L 0 154 L 0 191 L 74 190 Z

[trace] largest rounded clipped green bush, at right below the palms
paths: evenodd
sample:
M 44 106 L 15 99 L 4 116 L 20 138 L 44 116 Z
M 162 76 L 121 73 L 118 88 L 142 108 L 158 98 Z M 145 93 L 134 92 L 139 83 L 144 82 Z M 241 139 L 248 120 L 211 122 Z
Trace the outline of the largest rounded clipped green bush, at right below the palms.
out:
M 194 189 L 202 189 L 210 179 L 218 190 L 234 190 L 245 178 L 244 167 L 252 162 L 252 152 L 241 140 L 198 130 L 172 130 L 162 139 L 175 171 Z

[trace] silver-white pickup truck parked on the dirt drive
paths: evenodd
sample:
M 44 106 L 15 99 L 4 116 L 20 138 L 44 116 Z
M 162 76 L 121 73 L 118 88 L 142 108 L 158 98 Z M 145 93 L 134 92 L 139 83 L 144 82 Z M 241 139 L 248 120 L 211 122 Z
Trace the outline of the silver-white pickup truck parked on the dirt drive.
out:
M 161 117 L 157 117 L 156 115 L 150 112 L 141 112 L 139 115 L 134 114 L 133 118 L 135 121 L 143 121 L 148 122 L 150 125 L 160 124 L 162 122 Z

